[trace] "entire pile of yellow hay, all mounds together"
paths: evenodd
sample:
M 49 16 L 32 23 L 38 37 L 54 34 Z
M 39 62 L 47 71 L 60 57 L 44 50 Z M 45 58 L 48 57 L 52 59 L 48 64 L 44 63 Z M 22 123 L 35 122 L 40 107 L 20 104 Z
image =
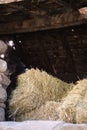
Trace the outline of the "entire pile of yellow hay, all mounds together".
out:
M 23 120 L 87 123 L 87 79 L 65 83 L 39 69 L 18 76 L 10 100 L 11 116 Z

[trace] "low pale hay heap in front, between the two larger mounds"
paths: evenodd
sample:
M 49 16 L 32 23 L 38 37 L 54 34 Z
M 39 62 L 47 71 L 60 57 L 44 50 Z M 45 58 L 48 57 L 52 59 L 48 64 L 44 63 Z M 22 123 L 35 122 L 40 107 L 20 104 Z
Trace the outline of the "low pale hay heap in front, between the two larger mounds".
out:
M 40 108 L 36 108 L 31 112 L 22 113 L 17 115 L 17 120 L 58 120 L 60 103 L 55 101 L 47 101 Z

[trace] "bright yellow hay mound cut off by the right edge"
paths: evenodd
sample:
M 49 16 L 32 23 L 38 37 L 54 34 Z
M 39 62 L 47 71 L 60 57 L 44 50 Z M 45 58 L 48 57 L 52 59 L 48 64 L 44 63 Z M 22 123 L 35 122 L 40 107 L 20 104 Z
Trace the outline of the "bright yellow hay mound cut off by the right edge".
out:
M 63 99 L 59 118 L 71 123 L 87 123 L 87 79 L 77 85 Z

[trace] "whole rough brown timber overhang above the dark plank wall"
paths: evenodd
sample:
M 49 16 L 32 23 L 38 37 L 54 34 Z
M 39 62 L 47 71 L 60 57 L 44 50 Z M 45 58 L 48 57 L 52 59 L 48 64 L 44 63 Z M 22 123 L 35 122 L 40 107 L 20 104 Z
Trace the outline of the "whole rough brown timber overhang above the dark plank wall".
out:
M 87 23 L 79 12 L 86 6 L 87 0 L 3 0 L 0 1 L 0 34 Z

